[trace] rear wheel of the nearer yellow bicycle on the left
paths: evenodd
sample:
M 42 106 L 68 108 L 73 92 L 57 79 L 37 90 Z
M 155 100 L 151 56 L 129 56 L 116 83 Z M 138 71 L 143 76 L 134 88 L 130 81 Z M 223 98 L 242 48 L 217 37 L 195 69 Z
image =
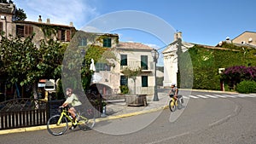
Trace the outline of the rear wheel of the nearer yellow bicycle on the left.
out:
M 79 116 L 79 128 L 81 130 L 91 130 L 96 123 L 95 114 L 88 112 L 82 112 Z

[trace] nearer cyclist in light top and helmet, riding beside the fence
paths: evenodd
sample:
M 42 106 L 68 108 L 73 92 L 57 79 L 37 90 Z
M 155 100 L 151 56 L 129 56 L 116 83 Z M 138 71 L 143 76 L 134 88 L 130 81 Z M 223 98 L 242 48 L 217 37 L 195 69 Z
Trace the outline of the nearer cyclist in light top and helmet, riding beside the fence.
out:
M 77 110 L 81 109 L 80 107 L 82 107 L 82 103 L 79 101 L 78 96 L 73 94 L 73 89 L 67 88 L 66 95 L 67 100 L 61 105 L 61 107 L 67 107 L 68 105 L 71 105 L 69 106 L 70 108 L 68 109 L 68 112 L 73 118 L 74 124 L 70 128 L 71 130 L 73 130 L 77 126 L 76 112 Z

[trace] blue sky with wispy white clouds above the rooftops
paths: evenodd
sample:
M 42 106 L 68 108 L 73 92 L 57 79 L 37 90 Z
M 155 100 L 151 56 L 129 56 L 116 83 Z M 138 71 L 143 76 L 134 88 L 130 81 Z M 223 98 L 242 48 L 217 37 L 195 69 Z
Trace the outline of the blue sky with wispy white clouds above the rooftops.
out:
M 73 21 L 77 29 L 104 14 L 142 11 L 183 32 L 183 41 L 189 43 L 216 45 L 225 37 L 232 39 L 245 31 L 256 32 L 254 0 L 14 0 L 14 3 L 25 10 L 26 20 L 38 21 L 38 15 L 42 15 L 43 21 L 49 18 L 56 24 L 69 25 Z M 166 45 L 147 32 L 128 29 L 114 32 L 119 34 L 120 41 L 147 43 L 158 48 Z M 170 43 L 172 40 L 170 33 Z

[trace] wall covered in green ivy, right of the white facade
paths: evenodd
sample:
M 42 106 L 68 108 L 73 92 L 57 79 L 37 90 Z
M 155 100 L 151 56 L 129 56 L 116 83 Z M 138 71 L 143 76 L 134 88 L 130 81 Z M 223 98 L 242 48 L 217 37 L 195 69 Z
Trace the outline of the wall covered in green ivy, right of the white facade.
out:
M 188 55 L 192 61 L 193 74 L 187 73 L 186 77 L 193 77 L 193 89 L 221 89 L 218 68 L 256 66 L 256 49 L 232 43 L 224 43 L 222 49 L 195 45 L 179 55 L 180 71 L 187 68 L 184 61 L 188 58 L 184 57 Z M 180 81 L 182 77 L 178 74 L 177 78 Z

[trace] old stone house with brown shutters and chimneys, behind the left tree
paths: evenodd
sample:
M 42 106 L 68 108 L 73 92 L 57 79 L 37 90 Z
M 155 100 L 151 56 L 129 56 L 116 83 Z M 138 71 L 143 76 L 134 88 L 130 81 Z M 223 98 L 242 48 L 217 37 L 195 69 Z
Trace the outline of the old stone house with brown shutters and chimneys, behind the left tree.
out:
M 2 37 L 26 38 L 33 35 L 32 42 L 39 47 L 42 39 L 48 40 L 49 38 L 61 43 L 69 43 L 75 32 L 76 29 L 72 22 L 69 26 L 51 24 L 49 19 L 43 21 L 40 15 L 38 21 L 16 20 L 15 5 L 0 3 L 0 40 Z M 40 87 L 42 84 L 38 84 L 38 86 Z M 0 95 L 4 95 L 1 97 L 8 99 L 9 95 L 15 95 L 15 89 L 15 84 L 9 84 L 4 77 L 0 78 Z

